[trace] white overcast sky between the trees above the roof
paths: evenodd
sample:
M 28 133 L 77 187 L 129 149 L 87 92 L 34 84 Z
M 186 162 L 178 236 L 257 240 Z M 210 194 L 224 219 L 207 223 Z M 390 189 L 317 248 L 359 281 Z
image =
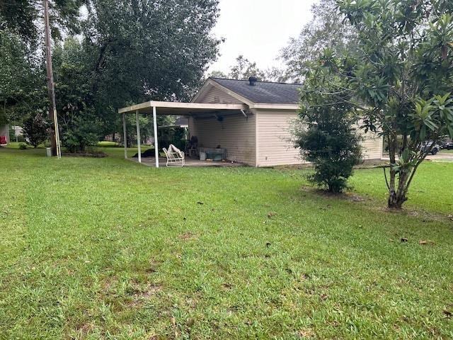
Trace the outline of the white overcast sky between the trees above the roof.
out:
M 214 34 L 225 38 L 210 72 L 228 72 L 238 55 L 261 69 L 279 66 L 275 60 L 290 37 L 297 37 L 311 19 L 316 0 L 220 0 Z

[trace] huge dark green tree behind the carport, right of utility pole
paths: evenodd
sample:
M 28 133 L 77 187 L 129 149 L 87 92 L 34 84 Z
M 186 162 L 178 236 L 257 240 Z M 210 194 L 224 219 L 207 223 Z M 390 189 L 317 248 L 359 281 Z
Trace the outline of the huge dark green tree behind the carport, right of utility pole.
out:
M 96 136 L 110 135 L 122 132 L 118 108 L 188 100 L 217 56 L 219 40 L 210 35 L 216 19 L 214 0 L 159 0 L 152 6 L 149 1 L 89 1 L 81 38 L 68 37 L 54 50 L 62 130 L 86 120 L 93 122 Z M 88 125 L 83 126 L 76 130 L 87 132 Z M 63 140 L 72 143 L 78 136 L 71 133 Z

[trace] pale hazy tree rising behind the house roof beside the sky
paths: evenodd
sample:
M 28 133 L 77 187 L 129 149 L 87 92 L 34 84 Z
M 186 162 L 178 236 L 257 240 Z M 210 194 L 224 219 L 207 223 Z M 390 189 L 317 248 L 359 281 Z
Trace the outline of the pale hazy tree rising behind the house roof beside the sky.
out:
M 336 54 L 355 49 L 355 33 L 337 6 L 336 0 L 321 0 L 311 8 L 313 20 L 307 23 L 297 38 L 291 38 L 280 52 L 285 63 L 282 81 L 301 83 L 311 62 L 318 60 L 326 48 Z

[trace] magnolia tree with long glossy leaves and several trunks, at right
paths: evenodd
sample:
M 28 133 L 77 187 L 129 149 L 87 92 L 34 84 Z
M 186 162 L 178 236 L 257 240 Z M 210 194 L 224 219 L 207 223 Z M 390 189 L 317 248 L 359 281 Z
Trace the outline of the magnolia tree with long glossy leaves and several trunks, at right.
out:
M 324 56 L 323 65 L 345 79 L 327 89 L 326 106 L 346 101 L 365 131 L 382 134 L 388 205 L 401 208 L 435 142 L 453 137 L 453 1 L 343 0 L 338 8 L 356 44 L 348 55 Z

